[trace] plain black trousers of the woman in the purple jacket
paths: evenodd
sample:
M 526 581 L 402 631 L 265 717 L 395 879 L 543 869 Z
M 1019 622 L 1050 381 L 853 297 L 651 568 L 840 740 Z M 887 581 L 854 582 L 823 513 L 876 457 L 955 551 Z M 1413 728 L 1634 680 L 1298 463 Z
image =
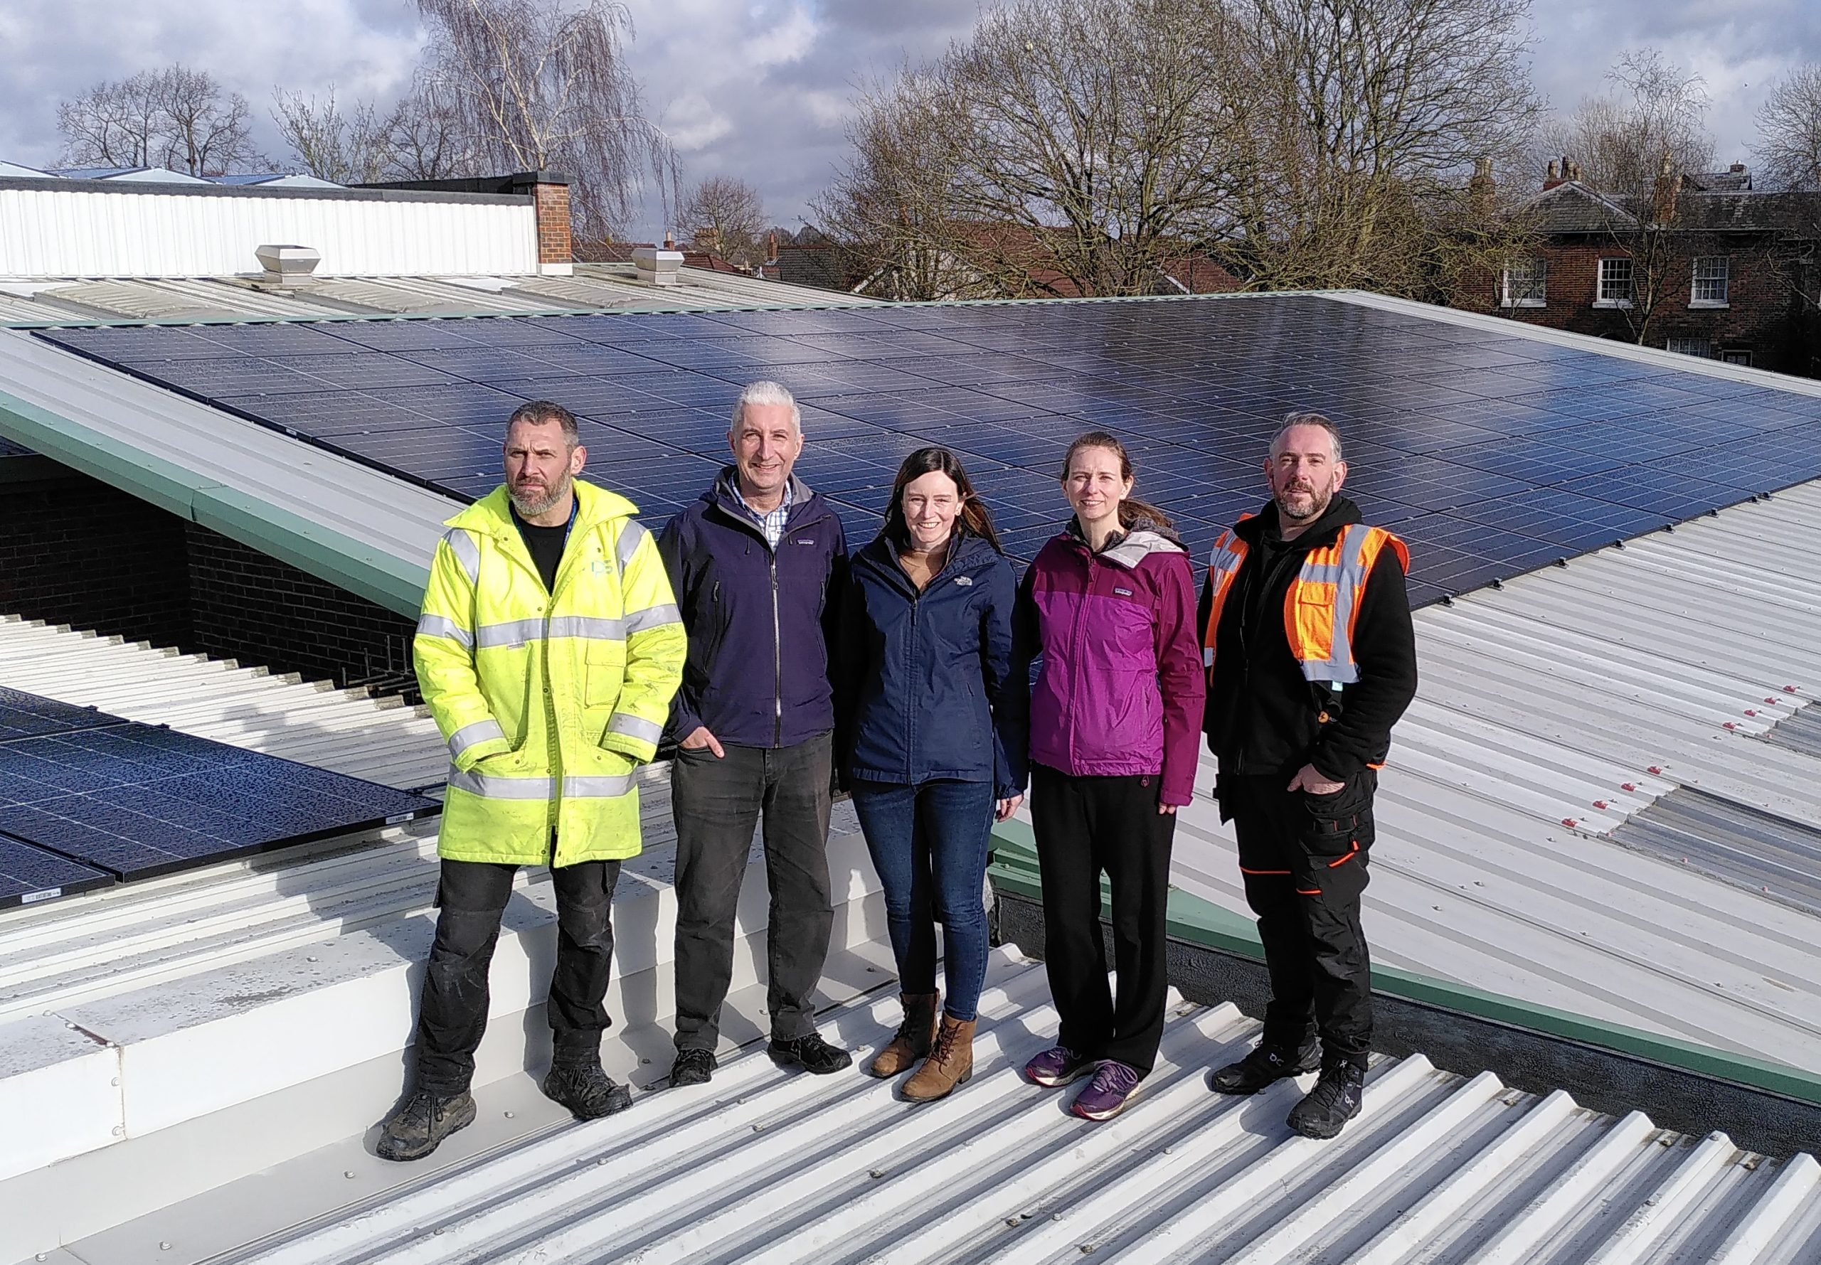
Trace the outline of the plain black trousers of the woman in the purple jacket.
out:
M 1062 1017 L 1056 1039 L 1140 1076 L 1156 1063 L 1169 988 L 1165 912 L 1175 814 L 1156 810 L 1156 777 L 1071 777 L 1031 766 L 1031 826 L 1043 879 L 1043 968 Z M 1107 987 L 1100 875 L 1113 888 Z

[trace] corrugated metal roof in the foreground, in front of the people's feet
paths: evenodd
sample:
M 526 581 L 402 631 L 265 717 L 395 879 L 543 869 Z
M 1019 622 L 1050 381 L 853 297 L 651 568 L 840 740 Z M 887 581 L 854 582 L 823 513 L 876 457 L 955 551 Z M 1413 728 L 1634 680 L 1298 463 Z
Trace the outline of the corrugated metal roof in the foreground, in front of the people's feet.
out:
M 832 1019 L 883 1041 L 896 999 Z M 1206 1072 L 1256 1025 L 1173 1007 L 1133 1107 L 1089 1125 L 1020 1067 L 1054 1025 L 1042 968 L 1000 954 L 974 1079 L 909 1107 L 858 1072 L 781 1074 L 761 1050 L 712 1085 L 639 1096 L 457 1163 L 220 1265 L 319 1261 L 1799 1261 L 1821 1252 L 1821 1167 L 1378 1059 L 1335 1141 L 1284 1127 L 1300 1092 L 1222 1098 Z M 328 1158 L 324 1159 L 328 1163 Z M 337 1158 L 333 1163 L 341 1165 Z M 368 1169 L 381 1161 L 368 1161 Z M 362 1169 L 355 1178 L 370 1178 Z M 393 1170 L 399 1174 L 399 1170 Z

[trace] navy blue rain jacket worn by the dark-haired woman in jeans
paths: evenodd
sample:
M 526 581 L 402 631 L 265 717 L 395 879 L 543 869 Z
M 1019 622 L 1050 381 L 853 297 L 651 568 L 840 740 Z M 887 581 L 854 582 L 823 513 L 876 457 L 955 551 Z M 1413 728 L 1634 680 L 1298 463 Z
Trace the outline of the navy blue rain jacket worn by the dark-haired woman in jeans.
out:
M 994 719 L 1016 593 L 1011 562 L 980 537 L 958 537 L 921 593 L 885 537 L 854 555 L 838 641 L 849 777 L 991 781 L 998 799 L 1023 792 Z

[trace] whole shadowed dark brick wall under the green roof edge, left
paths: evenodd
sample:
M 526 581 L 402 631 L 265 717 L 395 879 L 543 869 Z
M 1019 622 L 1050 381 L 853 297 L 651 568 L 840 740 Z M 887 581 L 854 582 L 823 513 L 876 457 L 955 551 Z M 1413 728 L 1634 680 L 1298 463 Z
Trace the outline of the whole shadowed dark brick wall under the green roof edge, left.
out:
M 0 613 L 417 701 L 413 621 L 49 459 L 11 462 L 35 475 L 0 470 Z

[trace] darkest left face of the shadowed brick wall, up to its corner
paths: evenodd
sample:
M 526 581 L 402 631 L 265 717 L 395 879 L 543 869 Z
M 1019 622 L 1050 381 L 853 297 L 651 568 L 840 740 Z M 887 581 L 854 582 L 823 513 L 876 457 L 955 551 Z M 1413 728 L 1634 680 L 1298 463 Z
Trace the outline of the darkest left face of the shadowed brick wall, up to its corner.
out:
M 7 464 L 51 466 L 42 457 Z M 0 484 L 0 613 L 180 646 L 188 541 L 171 513 L 75 471 Z

